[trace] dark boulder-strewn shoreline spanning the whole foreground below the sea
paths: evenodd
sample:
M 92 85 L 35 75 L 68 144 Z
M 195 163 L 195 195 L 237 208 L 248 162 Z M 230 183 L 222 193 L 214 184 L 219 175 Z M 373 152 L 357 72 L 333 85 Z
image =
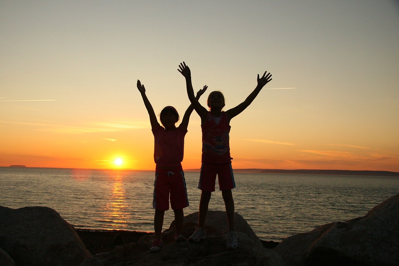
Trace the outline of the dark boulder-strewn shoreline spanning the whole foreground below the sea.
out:
M 331 222 L 280 243 L 261 241 L 235 213 L 239 245 L 226 248 L 225 212 L 208 211 L 207 238 L 188 238 L 198 212 L 184 216 L 182 235 L 174 241 L 174 222 L 161 238 L 164 246 L 150 252 L 154 234 L 126 230 L 75 229 L 53 209 L 0 206 L 0 265 L 399 265 L 399 194 L 365 216 Z M 275 245 L 277 246 L 268 246 Z

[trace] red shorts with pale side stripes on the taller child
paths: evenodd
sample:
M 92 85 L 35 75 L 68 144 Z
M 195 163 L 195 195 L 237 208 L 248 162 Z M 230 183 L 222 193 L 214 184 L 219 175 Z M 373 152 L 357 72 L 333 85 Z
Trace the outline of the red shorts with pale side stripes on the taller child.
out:
M 215 191 L 216 175 L 219 181 L 219 190 L 230 190 L 235 188 L 235 181 L 231 163 L 202 163 L 199 174 L 198 188 L 201 191 Z

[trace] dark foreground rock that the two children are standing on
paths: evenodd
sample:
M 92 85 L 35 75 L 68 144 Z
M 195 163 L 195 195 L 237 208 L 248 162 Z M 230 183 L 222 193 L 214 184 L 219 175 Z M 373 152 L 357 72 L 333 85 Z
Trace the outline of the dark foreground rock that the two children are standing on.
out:
M 190 215 L 193 216 L 193 214 Z M 164 246 L 158 252 L 149 251 L 154 235 L 147 235 L 140 238 L 139 242 L 117 246 L 113 251 L 95 254 L 85 259 L 81 266 L 284 265 L 284 261 L 277 252 L 263 248 L 243 232 L 237 232 L 239 244 L 234 250 L 227 250 L 225 230 L 214 228 L 209 224 L 204 226 L 207 238 L 200 242 L 189 241 L 188 238 L 196 230 L 196 225 L 197 222 L 184 222 L 182 234 L 187 239 L 177 243 L 173 239 L 175 228 L 172 222 L 170 228 L 161 235 Z

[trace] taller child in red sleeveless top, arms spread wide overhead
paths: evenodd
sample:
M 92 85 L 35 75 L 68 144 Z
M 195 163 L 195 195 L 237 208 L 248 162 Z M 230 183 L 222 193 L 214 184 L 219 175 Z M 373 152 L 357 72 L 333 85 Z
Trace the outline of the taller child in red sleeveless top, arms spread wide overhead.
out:
M 201 117 L 202 129 L 202 165 L 199 175 L 198 189 L 201 189 L 201 200 L 199 202 L 198 228 L 190 240 L 198 242 L 206 238 L 203 230 L 205 218 L 208 211 L 211 192 L 215 191 L 216 175 L 219 181 L 219 189 L 222 191 L 225 202 L 226 215 L 229 223 L 227 232 L 227 249 L 234 249 L 238 246 L 237 233 L 234 230 L 234 200 L 231 189 L 235 188 L 233 169 L 231 168 L 229 132 L 230 120 L 247 108 L 258 93 L 269 81 L 271 74 L 265 73 L 260 78 L 252 93 L 239 105 L 227 111 L 222 111 L 225 106 L 225 99 L 220 91 L 212 91 L 207 99 L 208 111 L 194 97 L 191 82 L 191 71 L 186 63 L 180 63 L 178 71 L 186 78 L 188 98 L 194 109 Z

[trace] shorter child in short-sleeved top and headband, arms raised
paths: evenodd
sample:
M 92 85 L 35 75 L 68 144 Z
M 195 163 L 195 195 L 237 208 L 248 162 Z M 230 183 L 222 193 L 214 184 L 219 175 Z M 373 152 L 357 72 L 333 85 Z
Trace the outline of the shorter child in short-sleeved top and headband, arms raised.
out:
M 150 123 L 152 134 L 154 134 L 154 161 L 155 167 L 155 182 L 154 195 L 152 206 L 155 209 L 154 215 L 154 229 L 155 239 L 152 242 L 151 251 L 160 250 L 162 244 L 161 232 L 164 223 L 165 210 L 169 209 L 169 194 L 170 206 L 174 211 L 176 234 L 175 240 L 177 242 L 184 241 L 184 236 L 181 235 L 183 227 L 184 212 L 183 208 L 188 206 L 186 180 L 181 162 L 183 161 L 184 152 L 184 136 L 187 133 L 188 121 L 190 115 L 194 110 L 192 104 L 184 113 L 182 123 L 178 127 L 175 126 L 179 120 L 179 114 L 172 106 L 166 106 L 160 113 L 160 121 L 163 127 L 158 123 L 154 109 L 146 96 L 146 89 L 137 80 L 137 88 L 141 93 L 144 105 L 150 116 Z M 196 99 L 205 92 L 206 86 L 200 89 L 197 93 Z

